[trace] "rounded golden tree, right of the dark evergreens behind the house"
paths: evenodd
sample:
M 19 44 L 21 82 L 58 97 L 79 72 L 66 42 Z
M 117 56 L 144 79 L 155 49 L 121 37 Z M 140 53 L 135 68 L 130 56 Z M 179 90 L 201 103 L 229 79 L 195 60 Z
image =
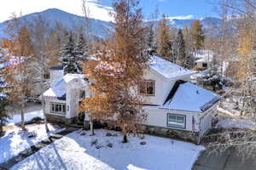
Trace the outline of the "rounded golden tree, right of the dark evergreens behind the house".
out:
M 198 50 L 204 47 L 205 37 L 203 34 L 202 26 L 200 20 L 195 20 L 191 24 L 191 31 L 190 31 L 192 41 L 193 41 L 193 48 L 194 50 Z

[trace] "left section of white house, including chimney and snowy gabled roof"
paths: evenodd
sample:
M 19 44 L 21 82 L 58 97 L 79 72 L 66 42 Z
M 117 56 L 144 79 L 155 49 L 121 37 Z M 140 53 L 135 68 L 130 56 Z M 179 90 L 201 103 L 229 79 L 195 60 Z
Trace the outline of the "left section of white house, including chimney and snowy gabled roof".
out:
M 67 74 L 61 66 L 52 67 L 49 71 L 50 86 L 42 95 L 44 113 L 49 121 L 74 122 L 79 116 L 79 101 L 88 97 L 88 82 L 83 74 Z M 88 91 L 88 90 L 87 90 Z

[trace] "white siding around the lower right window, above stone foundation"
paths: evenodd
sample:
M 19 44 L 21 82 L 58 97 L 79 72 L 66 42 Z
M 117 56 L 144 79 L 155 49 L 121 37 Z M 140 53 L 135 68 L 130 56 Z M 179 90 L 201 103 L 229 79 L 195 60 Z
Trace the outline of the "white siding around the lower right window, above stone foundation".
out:
M 195 131 L 196 132 L 199 131 L 199 114 L 200 113 L 188 112 L 188 111 L 164 110 L 164 109 L 158 109 L 154 107 L 146 107 L 144 108 L 144 111 L 145 111 L 145 114 L 147 115 L 147 121 L 144 123 L 146 125 L 193 131 L 192 119 L 194 116 Z M 183 128 L 167 127 L 168 113 L 186 116 L 186 128 L 183 129 Z

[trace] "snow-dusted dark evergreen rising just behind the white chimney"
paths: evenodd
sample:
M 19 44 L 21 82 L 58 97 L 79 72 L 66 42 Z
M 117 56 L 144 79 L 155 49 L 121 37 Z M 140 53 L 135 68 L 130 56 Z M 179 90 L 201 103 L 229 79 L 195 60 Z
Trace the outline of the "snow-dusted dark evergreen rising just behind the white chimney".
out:
M 75 44 L 73 42 L 73 34 L 66 34 L 66 42 L 61 49 L 61 63 L 65 73 L 79 73 L 79 59 L 77 58 L 74 48 Z

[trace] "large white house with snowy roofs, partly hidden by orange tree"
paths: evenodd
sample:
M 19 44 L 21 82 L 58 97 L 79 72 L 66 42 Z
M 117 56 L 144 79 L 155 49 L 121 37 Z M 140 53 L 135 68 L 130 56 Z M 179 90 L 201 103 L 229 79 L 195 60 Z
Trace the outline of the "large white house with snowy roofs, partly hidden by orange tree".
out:
M 67 121 L 78 116 L 79 92 L 85 89 L 85 97 L 89 97 L 90 91 L 86 88 L 88 83 L 84 81 L 84 75 L 61 77 L 61 71 L 57 72 L 56 69 L 51 71 L 56 77 L 52 81 L 56 81 L 44 93 L 45 113 L 52 119 L 63 116 Z M 216 114 L 219 97 L 190 82 L 194 71 L 151 56 L 144 72 L 143 81 L 137 86 L 137 95 L 144 101 L 147 121 L 143 127 L 146 133 L 197 142 L 212 128 L 212 116 Z M 85 121 L 89 123 L 88 115 Z

